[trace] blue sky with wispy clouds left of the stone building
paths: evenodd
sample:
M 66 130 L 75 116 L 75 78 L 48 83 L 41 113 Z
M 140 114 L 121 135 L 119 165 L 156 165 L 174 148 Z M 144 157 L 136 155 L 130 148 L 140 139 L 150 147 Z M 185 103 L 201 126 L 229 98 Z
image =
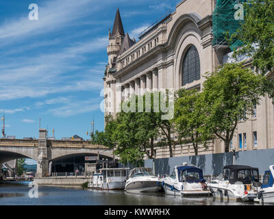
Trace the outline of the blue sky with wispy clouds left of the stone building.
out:
M 30 21 L 29 4 L 39 8 Z M 132 38 L 157 21 L 179 0 L 10 0 L 0 3 L 0 115 L 5 132 L 38 138 L 41 127 L 55 137 L 88 138 L 103 131 L 100 96 L 108 62 L 108 29 L 119 6 Z M 2 126 L 2 124 L 1 124 Z

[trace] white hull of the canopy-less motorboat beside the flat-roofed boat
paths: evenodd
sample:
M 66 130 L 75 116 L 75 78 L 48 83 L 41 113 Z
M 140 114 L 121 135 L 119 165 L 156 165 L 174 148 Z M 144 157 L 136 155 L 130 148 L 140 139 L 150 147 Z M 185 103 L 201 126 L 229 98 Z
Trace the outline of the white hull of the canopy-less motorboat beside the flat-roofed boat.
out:
M 161 188 L 160 181 L 133 181 L 125 185 L 127 192 L 159 192 Z

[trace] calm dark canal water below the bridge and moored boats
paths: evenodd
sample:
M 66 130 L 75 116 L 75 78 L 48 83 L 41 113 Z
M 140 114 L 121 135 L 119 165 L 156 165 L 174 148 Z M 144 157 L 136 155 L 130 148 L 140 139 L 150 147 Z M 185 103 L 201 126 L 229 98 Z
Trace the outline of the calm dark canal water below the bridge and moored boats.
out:
M 0 184 L 0 205 L 259 205 L 222 203 L 206 198 L 181 198 L 164 193 L 132 194 L 124 191 L 101 192 L 82 188 L 39 186 L 38 198 L 29 198 L 29 182 Z

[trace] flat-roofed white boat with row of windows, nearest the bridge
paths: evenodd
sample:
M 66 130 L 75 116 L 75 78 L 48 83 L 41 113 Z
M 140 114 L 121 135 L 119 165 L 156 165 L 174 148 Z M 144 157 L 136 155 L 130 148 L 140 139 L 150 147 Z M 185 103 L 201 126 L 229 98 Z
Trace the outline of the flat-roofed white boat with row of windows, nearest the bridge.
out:
M 129 168 L 103 168 L 93 174 L 88 188 L 99 190 L 123 190 Z

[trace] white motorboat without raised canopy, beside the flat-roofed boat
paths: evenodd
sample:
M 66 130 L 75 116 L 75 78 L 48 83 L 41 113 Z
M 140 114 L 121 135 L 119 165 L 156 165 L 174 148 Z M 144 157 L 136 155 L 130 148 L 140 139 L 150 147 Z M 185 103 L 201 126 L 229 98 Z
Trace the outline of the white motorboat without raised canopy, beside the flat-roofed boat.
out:
M 161 181 L 152 175 L 151 168 L 134 168 L 125 183 L 127 192 L 159 192 L 161 188 Z

